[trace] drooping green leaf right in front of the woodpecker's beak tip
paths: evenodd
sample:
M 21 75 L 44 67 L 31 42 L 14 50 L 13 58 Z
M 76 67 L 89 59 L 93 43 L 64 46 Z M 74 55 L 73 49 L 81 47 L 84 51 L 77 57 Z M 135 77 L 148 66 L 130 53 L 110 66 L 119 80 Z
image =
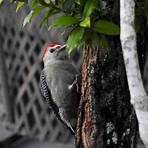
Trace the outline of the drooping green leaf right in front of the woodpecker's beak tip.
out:
M 72 50 L 76 47 L 78 47 L 82 41 L 83 34 L 84 34 L 85 29 L 84 28 L 76 28 L 70 36 L 68 37 L 67 40 L 67 48 L 68 48 L 68 53 L 70 54 Z

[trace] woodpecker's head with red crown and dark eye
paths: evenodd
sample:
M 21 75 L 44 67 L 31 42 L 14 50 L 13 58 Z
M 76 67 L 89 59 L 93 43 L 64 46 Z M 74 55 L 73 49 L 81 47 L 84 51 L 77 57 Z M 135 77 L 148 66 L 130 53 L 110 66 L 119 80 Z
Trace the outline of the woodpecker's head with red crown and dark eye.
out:
M 43 61 L 55 61 L 55 60 L 68 60 L 67 52 L 65 51 L 66 46 L 60 44 L 47 44 L 43 48 Z

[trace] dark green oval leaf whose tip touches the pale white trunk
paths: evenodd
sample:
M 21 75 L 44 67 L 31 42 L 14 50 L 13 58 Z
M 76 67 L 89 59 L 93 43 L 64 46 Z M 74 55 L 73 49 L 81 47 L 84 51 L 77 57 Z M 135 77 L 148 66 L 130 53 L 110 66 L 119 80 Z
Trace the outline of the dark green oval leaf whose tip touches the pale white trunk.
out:
M 107 20 L 99 20 L 95 23 L 94 28 L 96 32 L 106 35 L 119 35 L 120 28 L 113 22 Z

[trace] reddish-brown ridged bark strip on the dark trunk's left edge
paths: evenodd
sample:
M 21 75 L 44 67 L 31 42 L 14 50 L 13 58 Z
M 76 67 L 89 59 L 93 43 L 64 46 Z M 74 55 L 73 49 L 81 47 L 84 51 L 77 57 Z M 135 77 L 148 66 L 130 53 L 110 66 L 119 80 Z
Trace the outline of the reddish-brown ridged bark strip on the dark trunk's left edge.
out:
M 95 147 L 97 136 L 97 128 L 95 119 L 93 119 L 93 103 L 94 96 L 91 94 L 91 74 L 94 74 L 92 65 L 96 65 L 98 50 L 86 48 L 84 50 L 84 61 L 82 66 L 82 90 L 81 102 L 79 108 L 78 128 L 76 135 L 76 147 Z M 95 80 L 94 80 L 95 81 Z

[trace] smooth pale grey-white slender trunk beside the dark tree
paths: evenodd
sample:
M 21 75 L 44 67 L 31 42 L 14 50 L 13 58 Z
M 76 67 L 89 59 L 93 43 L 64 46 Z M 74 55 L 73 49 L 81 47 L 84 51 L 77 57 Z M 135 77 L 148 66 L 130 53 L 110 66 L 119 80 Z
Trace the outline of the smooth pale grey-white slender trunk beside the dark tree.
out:
M 148 96 L 145 92 L 140 73 L 134 18 L 134 0 L 120 0 L 120 38 L 131 103 L 138 118 L 141 139 L 148 147 Z

